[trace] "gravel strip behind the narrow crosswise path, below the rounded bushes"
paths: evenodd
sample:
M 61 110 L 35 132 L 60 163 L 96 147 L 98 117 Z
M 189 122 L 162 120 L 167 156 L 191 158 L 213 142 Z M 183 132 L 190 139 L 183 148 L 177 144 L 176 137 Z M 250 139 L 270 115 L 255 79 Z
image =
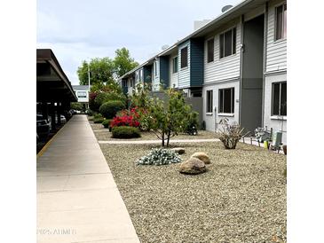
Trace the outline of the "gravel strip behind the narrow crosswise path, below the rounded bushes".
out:
M 119 139 L 119 138 L 113 138 L 111 137 L 111 132 L 109 132 L 109 129 L 105 129 L 102 124 L 99 123 L 93 123 L 91 121 L 90 125 L 91 128 L 94 130 L 94 134 L 97 137 L 99 141 L 131 141 L 131 140 L 156 140 L 158 139 L 153 132 L 146 132 L 143 131 L 140 133 L 141 137 L 137 138 L 129 138 L 129 139 Z M 199 130 L 197 136 L 190 136 L 188 134 L 179 134 L 178 136 L 171 137 L 172 139 L 204 139 L 204 138 L 216 138 L 215 134 L 213 132 L 207 131 L 207 130 Z

